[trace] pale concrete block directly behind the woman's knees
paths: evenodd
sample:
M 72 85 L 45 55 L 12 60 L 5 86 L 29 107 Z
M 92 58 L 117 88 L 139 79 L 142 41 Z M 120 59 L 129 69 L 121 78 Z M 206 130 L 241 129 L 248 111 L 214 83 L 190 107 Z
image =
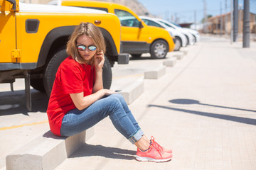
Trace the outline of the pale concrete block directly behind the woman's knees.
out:
M 144 92 L 144 79 L 138 79 L 134 83 L 129 84 L 122 91 L 119 91 L 119 94 L 122 94 L 124 100 L 127 104 L 132 103 L 139 95 Z

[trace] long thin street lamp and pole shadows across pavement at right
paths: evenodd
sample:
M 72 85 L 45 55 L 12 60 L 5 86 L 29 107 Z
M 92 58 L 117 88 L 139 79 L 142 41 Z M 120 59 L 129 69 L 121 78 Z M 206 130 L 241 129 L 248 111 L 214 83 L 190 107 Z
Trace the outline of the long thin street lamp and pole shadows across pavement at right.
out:
M 224 107 L 224 106 L 201 104 L 199 101 L 189 100 L 189 99 L 175 99 L 175 100 L 171 100 L 170 102 L 179 103 L 179 104 L 200 104 L 200 105 L 213 106 L 213 107 L 219 107 L 219 108 L 229 108 L 229 107 Z M 183 109 L 183 108 L 171 108 L 168 106 L 149 105 L 149 107 L 166 108 L 166 109 L 169 109 L 172 111 L 181 111 L 181 112 L 191 113 L 191 114 L 195 114 L 195 115 L 203 115 L 203 116 L 207 116 L 210 118 L 218 118 L 218 119 L 230 120 L 230 121 L 238 122 L 238 123 L 256 125 L 256 119 L 252 119 L 252 118 L 242 118 L 242 117 L 233 116 L 233 115 L 223 115 L 223 114 L 218 114 L 218 113 L 206 113 L 206 112 L 201 112 L 201 111 L 191 111 L 191 110 L 187 110 L 187 109 Z M 230 108 L 230 109 L 236 109 L 236 110 L 240 110 L 240 111 L 251 111 L 251 110 L 242 109 L 242 108 Z M 255 112 L 255 111 L 252 111 L 252 112 Z

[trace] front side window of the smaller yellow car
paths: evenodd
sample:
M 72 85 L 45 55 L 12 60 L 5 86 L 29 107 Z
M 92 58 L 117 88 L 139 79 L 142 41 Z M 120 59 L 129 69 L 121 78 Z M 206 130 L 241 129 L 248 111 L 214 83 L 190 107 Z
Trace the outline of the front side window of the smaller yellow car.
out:
M 118 16 L 121 22 L 121 26 L 139 27 L 139 21 L 131 13 L 119 9 L 114 9 L 114 14 Z

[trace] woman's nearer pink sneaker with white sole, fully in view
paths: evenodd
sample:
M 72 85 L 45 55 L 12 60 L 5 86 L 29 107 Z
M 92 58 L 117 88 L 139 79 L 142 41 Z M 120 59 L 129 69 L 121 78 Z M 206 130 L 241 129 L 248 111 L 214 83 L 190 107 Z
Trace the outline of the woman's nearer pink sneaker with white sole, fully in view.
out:
M 163 149 L 152 145 L 152 143 L 149 146 L 149 149 L 144 152 L 138 148 L 136 154 L 137 161 L 141 162 L 169 162 L 171 161 L 171 158 L 171 153 L 164 152 Z

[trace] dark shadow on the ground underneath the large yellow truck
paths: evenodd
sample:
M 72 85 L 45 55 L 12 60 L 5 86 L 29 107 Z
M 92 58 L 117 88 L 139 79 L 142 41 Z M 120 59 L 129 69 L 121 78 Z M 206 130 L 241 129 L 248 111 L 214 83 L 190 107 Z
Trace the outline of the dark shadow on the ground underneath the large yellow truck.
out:
M 46 112 L 48 106 L 48 96 L 44 93 L 31 89 L 32 111 L 26 108 L 25 91 L 5 91 L 0 92 L 0 116 L 23 114 L 28 112 Z

